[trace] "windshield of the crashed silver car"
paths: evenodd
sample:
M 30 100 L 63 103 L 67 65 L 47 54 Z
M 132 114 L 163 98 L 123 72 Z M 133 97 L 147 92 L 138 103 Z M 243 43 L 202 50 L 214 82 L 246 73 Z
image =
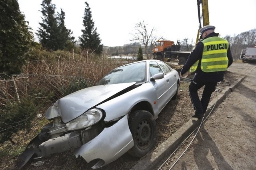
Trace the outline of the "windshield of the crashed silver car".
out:
M 97 85 L 144 82 L 146 75 L 145 64 L 146 62 L 139 62 L 113 69 Z

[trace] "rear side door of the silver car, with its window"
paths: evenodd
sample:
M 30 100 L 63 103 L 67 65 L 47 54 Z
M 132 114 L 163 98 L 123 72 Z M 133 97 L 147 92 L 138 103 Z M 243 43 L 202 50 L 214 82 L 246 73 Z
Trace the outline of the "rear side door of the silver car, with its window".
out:
M 162 61 L 157 61 L 157 63 L 160 65 L 161 69 L 164 71 L 164 78 L 166 79 L 167 82 L 167 88 L 168 88 L 168 94 L 169 94 L 169 99 L 171 99 L 177 90 L 177 77 L 174 71 L 166 63 Z

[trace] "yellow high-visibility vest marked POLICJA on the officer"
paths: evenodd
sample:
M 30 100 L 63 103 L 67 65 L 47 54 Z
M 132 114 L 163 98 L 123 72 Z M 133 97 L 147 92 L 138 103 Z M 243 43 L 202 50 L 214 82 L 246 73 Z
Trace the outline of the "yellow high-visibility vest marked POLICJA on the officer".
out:
M 220 37 L 209 37 L 202 40 L 204 44 L 201 69 L 202 71 L 215 72 L 226 71 L 228 68 L 228 41 Z M 190 67 L 190 72 L 194 72 L 197 69 L 198 61 Z

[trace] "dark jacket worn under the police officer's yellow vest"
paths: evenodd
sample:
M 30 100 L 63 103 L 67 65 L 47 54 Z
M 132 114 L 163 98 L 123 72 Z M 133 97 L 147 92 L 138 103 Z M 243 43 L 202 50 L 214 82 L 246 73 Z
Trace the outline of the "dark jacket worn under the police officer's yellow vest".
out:
M 213 33 L 209 34 L 208 36 L 206 36 L 205 38 L 215 37 L 215 36 L 218 36 L 218 34 L 213 32 Z M 207 81 L 207 82 L 222 81 L 225 71 L 216 71 L 216 72 L 206 73 L 206 72 L 201 70 L 200 66 L 201 66 L 201 59 L 202 59 L 203 49 L 204 49 L 204 44 L 202 42 L 198 42 L 195 49 L 188 56 L 188 59 L 187 59 L 186 63 L 184 64 L 180 73 L 182 75 L 185 74 L 187 71 L 189 71 L 190 67 L 197 60 L 199 60 L 198 67 L 195 71 L 195 75 L 194 75 L 194 78 L 193 78 L 194 81 Z M 230 46 L 228 47 L 227 56 L 228 56 L 228 67 L 229 67 L 233 63 L 233 58 L 232 58 L 232 54 L 231 54 L 231 51 L 230 51 Z

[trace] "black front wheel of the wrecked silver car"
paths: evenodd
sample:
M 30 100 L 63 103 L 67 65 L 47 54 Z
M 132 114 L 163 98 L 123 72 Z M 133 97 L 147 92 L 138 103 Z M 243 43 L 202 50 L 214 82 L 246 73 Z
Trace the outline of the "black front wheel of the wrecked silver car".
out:
M 150 112 L 138 110 L 130 114 L 128 123 L 134 140 L 134 146 L 128 153 L 142 157 L 155 146 L 156 121 Z

